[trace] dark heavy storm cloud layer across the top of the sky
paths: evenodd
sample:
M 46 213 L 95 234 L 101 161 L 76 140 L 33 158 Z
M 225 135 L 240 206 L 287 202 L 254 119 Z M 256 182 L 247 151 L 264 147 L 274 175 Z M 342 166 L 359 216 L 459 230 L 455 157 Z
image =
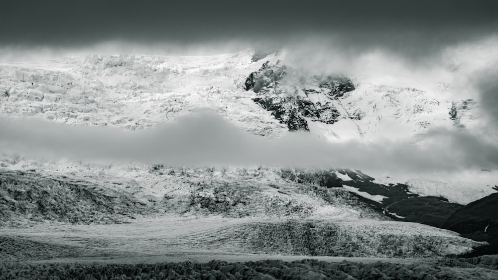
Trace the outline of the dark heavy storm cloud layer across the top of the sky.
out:
M 348 48 L 410 55 L 498 30 L 493 0 L 7 1 L 0 45 L 75 47 L 103 41 L 179 45 L 331 35 Z

